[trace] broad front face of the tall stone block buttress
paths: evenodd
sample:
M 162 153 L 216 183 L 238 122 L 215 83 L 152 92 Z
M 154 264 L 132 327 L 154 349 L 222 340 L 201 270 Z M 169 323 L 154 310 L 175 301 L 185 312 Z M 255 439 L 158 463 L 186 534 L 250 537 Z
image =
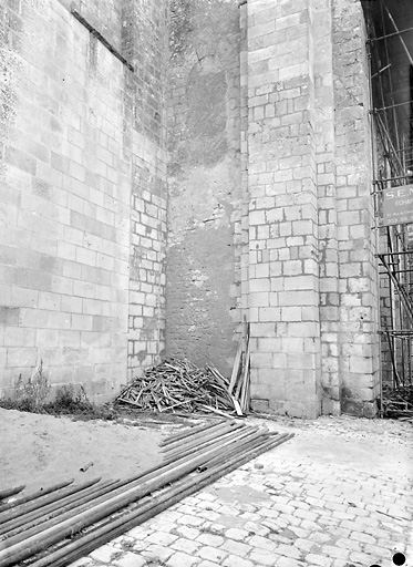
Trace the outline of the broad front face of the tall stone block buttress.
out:
M 248 2 L 254 404 L 318 415 L 320 321 L 311 13 Z

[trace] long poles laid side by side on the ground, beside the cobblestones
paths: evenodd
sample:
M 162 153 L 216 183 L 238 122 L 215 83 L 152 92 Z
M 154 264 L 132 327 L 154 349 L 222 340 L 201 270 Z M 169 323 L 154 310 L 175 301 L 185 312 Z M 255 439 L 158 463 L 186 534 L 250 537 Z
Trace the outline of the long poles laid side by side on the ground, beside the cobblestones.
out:
M 0 566 L 70 565 L 291 437 L 214 420 L 165 440 L 163 464 L 132 478 L 69 480 L 21 497 L 23 486 L 0 487 Z

